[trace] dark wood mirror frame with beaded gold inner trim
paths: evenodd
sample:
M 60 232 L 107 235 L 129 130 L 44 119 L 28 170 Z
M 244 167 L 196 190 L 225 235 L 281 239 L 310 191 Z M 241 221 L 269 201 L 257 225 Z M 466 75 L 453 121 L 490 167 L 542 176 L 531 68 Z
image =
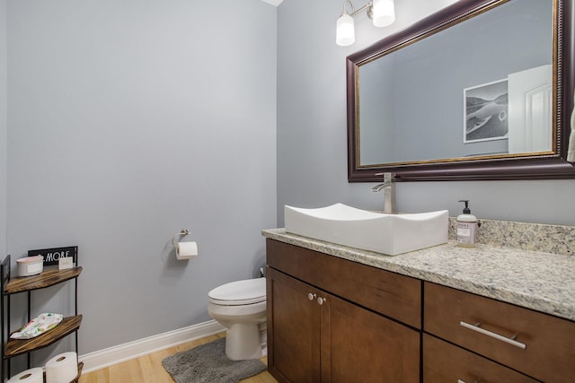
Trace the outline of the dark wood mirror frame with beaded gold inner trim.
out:
M 574 164 L 567 162 L 567 148 L 571 132 L 571 111 L 575 83 L 575 0 L 554 0 L 553 47 L 553 110 L 555 135 L 552 154 L 526 154 L 506 158 L 446 160 L 413 163 L 401 166 L 358 166 L 357 139 L 357 74 L 362 63 L 385 56 L 397 49 L 424 39 L 440 30 L 482 13 L 506 0 L 468 0 L 456 2 L 429 17 L 416 22 L 394 35 L 377 41 L 346 60 L 348 113 L 348 180 L 349 182 L 377 182 L 376 173 L 392 172 L 397 181 L 423 180 L 479 180 L 479 179 L 551 179 L 575 178 Z

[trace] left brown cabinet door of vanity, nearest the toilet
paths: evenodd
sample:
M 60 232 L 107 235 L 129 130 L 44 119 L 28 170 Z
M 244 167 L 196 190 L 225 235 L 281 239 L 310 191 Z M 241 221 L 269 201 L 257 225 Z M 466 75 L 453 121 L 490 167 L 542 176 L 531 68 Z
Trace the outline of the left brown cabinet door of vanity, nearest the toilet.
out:
M 268 370 L 280 382 L 321 381 L 318 291 L 270 267 L 266 283 Z

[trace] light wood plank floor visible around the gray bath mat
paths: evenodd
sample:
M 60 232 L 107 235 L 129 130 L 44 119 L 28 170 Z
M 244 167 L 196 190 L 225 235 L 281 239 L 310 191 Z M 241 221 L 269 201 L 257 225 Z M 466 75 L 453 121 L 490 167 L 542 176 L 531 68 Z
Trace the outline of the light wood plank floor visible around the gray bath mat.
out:
M 173 383 L 173 379 L 162 366 L 162 360 L 166 356 L 193 348 L 199 344 L 205 344 L 226 336 L 226 333 L 211 335 L 195 340 L 187 344 L 180 344 L 156 353 L 151 353 L 131 361 L 83 374 L 79 383 Z M 265 364 L 268 358 L 261 358 Z M 242 380 L 243 383 L 277 383 L 268 371 L 255 375 L 250 379 Z M 192 382 L 190 382 L 192 383 Z

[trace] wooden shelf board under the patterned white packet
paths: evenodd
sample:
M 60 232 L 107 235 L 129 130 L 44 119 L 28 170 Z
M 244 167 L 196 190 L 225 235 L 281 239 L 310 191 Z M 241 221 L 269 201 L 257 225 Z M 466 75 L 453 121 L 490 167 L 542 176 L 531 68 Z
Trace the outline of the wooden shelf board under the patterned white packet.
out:
M 82 316 L 66 317 L 62 319 L 56 327 L 50 329 L 45 334 L 38 335 L 31 339 L 8 339 L 4 353 L 4 359 L 12 358 L 21 353 L 29 353 L 34 350 L 49 346 L 62 339 L 64 336 L 72 334 L 82 324 Z

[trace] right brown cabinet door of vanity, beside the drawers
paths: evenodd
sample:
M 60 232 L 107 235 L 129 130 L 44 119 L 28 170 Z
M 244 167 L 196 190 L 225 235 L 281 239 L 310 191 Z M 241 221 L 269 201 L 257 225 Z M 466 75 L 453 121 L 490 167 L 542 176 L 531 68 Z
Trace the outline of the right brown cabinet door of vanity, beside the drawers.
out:
M 418 331 L 322 294 L 322 382 L 420 381 Z

